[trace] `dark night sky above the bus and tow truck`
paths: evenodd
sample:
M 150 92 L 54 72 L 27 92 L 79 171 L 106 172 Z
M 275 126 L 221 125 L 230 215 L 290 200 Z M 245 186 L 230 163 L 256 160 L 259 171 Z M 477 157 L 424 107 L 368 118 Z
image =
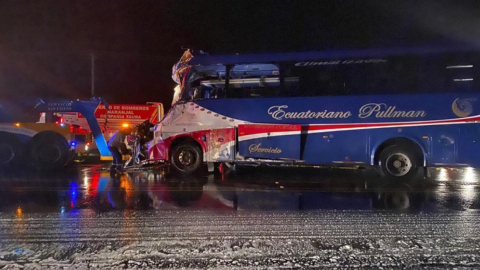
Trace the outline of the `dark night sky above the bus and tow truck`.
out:
M 170 104 L 183 48 L 210 54 L 480 43 L 479 1 L 0 0 L 0 98 Z

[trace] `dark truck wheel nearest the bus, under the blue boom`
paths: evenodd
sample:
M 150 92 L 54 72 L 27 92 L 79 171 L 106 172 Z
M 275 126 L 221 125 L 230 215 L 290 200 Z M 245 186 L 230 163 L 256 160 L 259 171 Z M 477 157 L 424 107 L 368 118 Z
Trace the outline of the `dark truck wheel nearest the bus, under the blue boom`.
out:
M 54 131 L 42 131 L 33 136 L 31 161 L 37 169 L 62 168 L 69 159 L 69 145 L 65 137 Z

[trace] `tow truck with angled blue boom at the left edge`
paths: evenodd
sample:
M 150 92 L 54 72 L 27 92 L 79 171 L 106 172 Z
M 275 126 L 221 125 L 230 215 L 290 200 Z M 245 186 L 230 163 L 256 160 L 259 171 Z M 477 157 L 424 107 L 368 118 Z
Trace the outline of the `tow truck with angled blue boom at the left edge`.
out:
M 73 127 L 58 113 L 81 112 L 87 116 L 95 140 L 109 154 L 93 112 L 99 100 L 20 100 L 0 102 L 0 168 L 34 167 L 56 170 L 75 156 Z

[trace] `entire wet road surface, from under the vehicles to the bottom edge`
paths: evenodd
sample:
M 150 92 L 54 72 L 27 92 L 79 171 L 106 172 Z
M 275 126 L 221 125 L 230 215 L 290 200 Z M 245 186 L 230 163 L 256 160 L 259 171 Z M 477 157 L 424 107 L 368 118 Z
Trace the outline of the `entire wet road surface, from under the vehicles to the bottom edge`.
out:
M 0 268 L 480 267 L 479 170 L 2 174 Z

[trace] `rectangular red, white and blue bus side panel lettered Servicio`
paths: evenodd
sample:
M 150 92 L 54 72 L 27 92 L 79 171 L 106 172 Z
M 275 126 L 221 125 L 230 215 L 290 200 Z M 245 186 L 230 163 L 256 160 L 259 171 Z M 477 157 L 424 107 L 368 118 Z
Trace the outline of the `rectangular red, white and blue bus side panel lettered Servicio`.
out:
M 301 126 L 246 124 L 238 126 L 238 151 L 243 157 L 300 159 Z

